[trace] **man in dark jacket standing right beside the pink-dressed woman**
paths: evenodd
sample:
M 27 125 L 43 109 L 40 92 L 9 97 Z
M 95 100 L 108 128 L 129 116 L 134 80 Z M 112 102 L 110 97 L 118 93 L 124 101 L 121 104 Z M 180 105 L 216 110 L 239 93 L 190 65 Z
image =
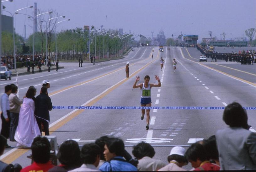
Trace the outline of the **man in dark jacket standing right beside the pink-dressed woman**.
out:
M 42 87 L 40 95 L 35 99 L 35 118 L 39 126 L 40 132 L 41 123 L 44 126 L 45 135 L 50 135 L 49 133 L 49 122 L 50 122 L 50 113 L 52 110 L 51 98 L 48 96 L 47 87 Z

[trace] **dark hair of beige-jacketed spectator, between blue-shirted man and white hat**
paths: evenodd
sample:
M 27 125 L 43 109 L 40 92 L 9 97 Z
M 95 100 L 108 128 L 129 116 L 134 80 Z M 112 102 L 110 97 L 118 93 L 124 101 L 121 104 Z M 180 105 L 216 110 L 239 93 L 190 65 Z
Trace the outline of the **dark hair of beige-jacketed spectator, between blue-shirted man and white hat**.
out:
M 145 156 L 149 156 L 150 158 L 153 158 L 155 155 L 155 150 L 154 148 L 145 142 L 138 143 L 137 145 L 133 146 L 132 154 L 135 156 L 137 159 L 141 159 Z

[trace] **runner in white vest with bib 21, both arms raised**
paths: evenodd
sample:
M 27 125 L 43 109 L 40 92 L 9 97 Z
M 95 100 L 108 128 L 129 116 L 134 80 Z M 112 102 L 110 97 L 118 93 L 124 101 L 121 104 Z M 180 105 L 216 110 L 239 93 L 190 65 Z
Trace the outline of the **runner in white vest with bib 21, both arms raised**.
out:
M 158 81 L 158 84 L 150 84 L 149 83 L 149 80 L 150 80 L 150 77 L 148 75 L 146 75 L 144 77 L 144 82 L 141 83 L 141 84 L 137 84 L 138 81 L 140 81 L 140 76 L 136 76 L 136 81 L 135 83 L 133 84 L 133 88 L 139 88 L 141 89 L 141 106 L 147 106 L 147 107 L 150 107 L 150 108 L 146 108 L 146 112 L 147 112 L 147 126 L 146 126 L 146 130 L 149 129 L 149 119 L 150 119 L 150 116 L 149 116 L 149 112 L 150 112 L 150 109 L 151 109 L 151 88 L 152 87 L 160 87 L 161 86 L 161 82 L 160 82 L 160 79 L 157 75 L 155 75 L 155 79 Z M 144 119 L 144 115 L 145 115 L 145 109 L 141 109 L 141 120 Z

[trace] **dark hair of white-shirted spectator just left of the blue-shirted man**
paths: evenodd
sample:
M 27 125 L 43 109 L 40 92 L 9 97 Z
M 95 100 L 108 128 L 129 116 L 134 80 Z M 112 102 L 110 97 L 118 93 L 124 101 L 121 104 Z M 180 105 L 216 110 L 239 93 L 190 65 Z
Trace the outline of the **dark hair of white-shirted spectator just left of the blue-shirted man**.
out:
M 100 148 L 95 143 L 85 144 L 81 150 L 81 158 L 84 164 L 94 164 L 97 156 L 100 156 Z

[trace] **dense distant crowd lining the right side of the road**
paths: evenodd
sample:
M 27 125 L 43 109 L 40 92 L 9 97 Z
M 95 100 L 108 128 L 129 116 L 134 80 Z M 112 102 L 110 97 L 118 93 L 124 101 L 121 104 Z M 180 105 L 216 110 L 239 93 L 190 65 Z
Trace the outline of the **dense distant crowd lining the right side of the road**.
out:
M 205 55 L 211 59 L 219 59 L 225 61 L 235 61 L 241 63 L 242 65 L 250 65 L 256 63 L 256 52 L 255 50 L 243 50 L 239 52 L 230 52 L 230 53 L 221 53 L 216 52 L 215 50 L 208 49 L 206 46 L 202 46 L 200 44 L 196 45 L 197 50 L 201 52 L 201 54 Z

